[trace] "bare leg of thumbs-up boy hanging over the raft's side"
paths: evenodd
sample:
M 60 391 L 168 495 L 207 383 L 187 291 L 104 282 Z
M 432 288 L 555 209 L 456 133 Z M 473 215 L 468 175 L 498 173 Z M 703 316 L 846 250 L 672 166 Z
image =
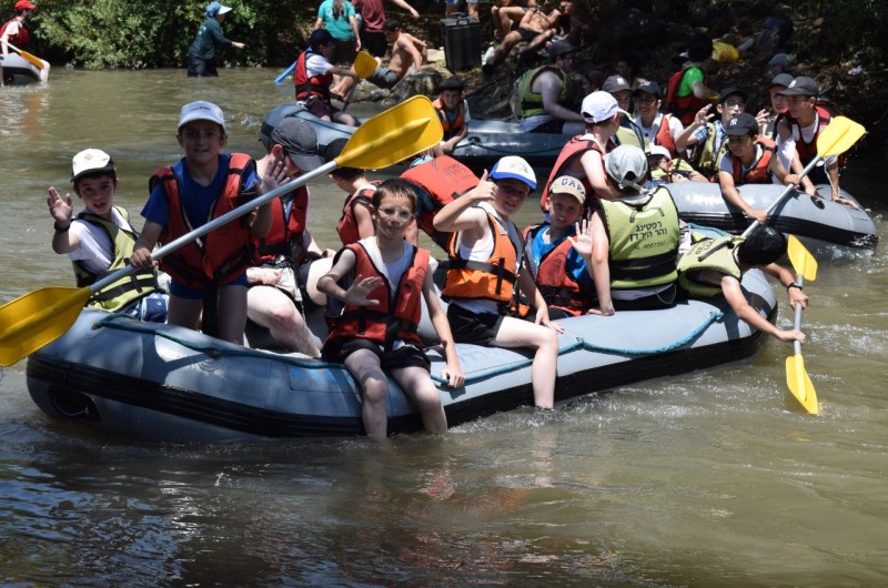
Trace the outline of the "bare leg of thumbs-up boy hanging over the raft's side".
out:
M 491 342 L 497 347 L 533 347 L 531 379 L 534 404 L 541 408 L 555 406 L 555 371 L 558 365 L 558 335 L 547 326 L 512 316 L 503 318 L 500 332 Z

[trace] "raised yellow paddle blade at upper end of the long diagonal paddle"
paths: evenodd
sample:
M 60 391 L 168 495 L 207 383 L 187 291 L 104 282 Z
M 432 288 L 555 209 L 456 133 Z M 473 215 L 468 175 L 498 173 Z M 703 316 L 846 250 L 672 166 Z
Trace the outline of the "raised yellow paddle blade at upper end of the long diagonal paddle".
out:
M 432 101 L 416 95 L 361 124 L 336 158 L 336 166 L 387 168 L 436 145 L 443 138 L 444 129 Z

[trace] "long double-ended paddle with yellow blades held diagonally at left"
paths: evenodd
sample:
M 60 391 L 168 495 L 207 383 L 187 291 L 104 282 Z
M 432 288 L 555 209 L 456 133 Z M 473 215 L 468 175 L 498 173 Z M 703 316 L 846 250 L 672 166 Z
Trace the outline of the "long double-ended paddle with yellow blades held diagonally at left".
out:
M 382 112 L 355 129 L 342 153 L 334 160 L 268 194 L 243 204 L 168 243 L 151 254 L 157 261 L 210 231 L 243 216 L 256 206 L 295 190 L 336 168 L 387 168 L 437 144 L 444 132 L 432 102 L 413 97 Z M 123 267 L 89 287 L 46 287 L 0 306 L 0 366 L 12 365 L 60 337 L 77 321 L 83 304 L 103 287 L 135 271 Z

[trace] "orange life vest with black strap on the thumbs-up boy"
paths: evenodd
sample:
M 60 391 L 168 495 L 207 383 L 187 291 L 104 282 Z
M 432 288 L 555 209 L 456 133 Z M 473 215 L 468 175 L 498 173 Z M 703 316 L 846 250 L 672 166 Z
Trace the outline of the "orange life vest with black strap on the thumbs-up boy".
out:
M 447 276 L 441 291 L 444 300 L 488 300 L 500 303 L 501 313 L 505 314 L 515 292 L 518 251 L 522 244 L 513 243 L 508 237 L 508 226 L 502 223 L 503 221 L 487 212 L 487 224 L 494 245 L 491 256 L 485 262 L 461 257 L 461 233 L 453 233 L 447 245 Z

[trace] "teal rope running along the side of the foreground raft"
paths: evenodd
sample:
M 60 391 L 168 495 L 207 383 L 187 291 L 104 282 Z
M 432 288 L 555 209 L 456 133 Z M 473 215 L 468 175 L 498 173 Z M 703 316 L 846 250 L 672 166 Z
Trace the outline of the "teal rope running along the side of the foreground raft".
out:
M 713 323 L 717 323 L 722 321 L 725 316 L 725 313 L 720 311 L 710 312 L 709 315 L 693 328 L 688 334 L 683 336 L 679 339 L 676 339 L 668 345 L 663 345 L 659 347 L 648 347 L 648 348 L 624 348 L 624 347 L 608 347 L 607 345 L 598 345 L 595 343 L 587 342 L 583 337 L 577 337 L 574 343 L 569 345 L 565 345 L 564 347 L 558 348 L 558 355 L 564 355 L 567 353 L 575 352 L 577 349 L 585 349 L 585 351 L 594 351 L 594 352 L 602 352 L 602 353 L 610 353 L 614 355 L 630 355 L 630 356 L 643 356 L 643 355 L 655 355 L 658 353 L 666 353 L 679 347 L 683 347 L 697 338 L 700 333 L 709 328 L 709 325 Z M 127 318 L 125 322 L 118 322 L 118 318 Z M 296 367 L 302 367 L 306 369 L 329 369 L 329 368 L 341 368 L 343 367 L 340 363 L 331 363 L 324 362 L 322 359 L 310 359 L 310 358 L 301 358 L 301 357 L 291 357 L 289 355 L 273 355 L 270 356 L 265 352 L 249 349 L 246 347 L 239 348 L 239 349 L 221 349 L 215 345 L 205 345 L 202 343 L 196 343 L 194 341 L 189 341 L 186 338 L 182 338 L 175 335 L 172 335 L 163 330 L 159 330 L 155 326 L 149 326 L 148 323 L 137 323 L 132 321 L 132 318 L 125 314 L 111 314 L 103 318 L 100 318 L 93 325 L 93 328 L 120 328 L 122 331 L 132 331 L 135 333 L 145 333 L 149 335 L 154 335 L 158 337 L 163 337 L 165 339 L 172 341 L 182 345 L 183 347 L 188 347 L 190 349 L 194 349 L 196 352 L 203 353 L 213 359 L 218 359 L 221 356 L 230 356 L 230 357 L 258 357 L 263 359 L 274 359 L 278 362 L 283 362 L 287 365 L 293 365 Z M 527 367 L 533 363 L 533 359 L 524 359 L 517 363 L 511 363 L 508 365 L 495 367 L 492 369 L 486 369 L 484 372 L 467 375 L 465 378 L 466 384 L 472 384 L 474 382 L 481 382 L 482 379 L 487 379 L 491 377 L 496 377 L 503 374 L 507 374 L 509 372 L 514 372 L 515 369 L 521 369 Z M 447 381 L 434 374 L 431 374 L 432 379 L 438 384 L 446 384 Z

